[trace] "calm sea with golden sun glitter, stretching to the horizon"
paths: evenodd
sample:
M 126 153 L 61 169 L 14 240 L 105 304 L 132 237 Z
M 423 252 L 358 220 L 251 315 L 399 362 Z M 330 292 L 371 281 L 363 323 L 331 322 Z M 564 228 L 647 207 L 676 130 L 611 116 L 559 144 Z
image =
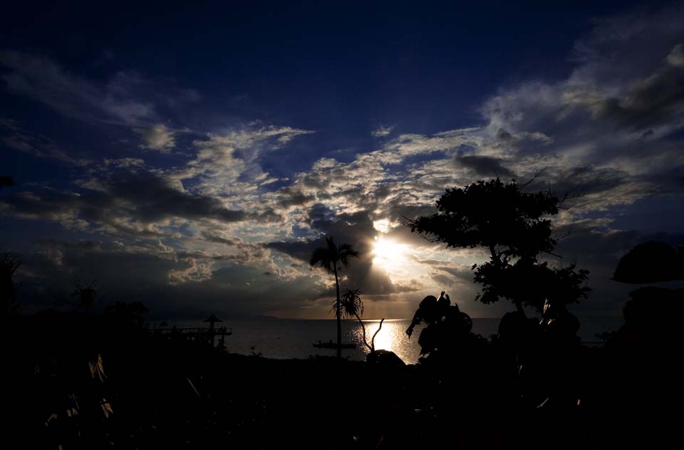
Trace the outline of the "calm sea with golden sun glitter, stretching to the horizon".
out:
M 621 317 L 579 317 L 581 329 L 579 336 L 583 342 L 596 344 L 600 332 L 615 331 L 623 324 Z M 472 319 L 472 332 L 490 337 L 497 333 L 500 319 Z M 375 349 L 386 349 L 400 357 L 406 364 L 415 364 L 420 357 L 421 326 L 415 328 L 413 336 L 406 335 L 409 319 L 385 319 L 380 332 L 375 337 Z M 201 321 L 170 322 L 177 327 L 206 327 Z M 371 342 L 373 333 L 380 326 L 379 320 L 364 320 L 366 336 Z M 224 320 L 216 327 L 232 329 L 226 337 L 227 351 L 238 354 L 259 354 L 274 359 L 307 359 L 309 357 L 335 356 L 335 349 L 319 349 L 315 343 L 336 342 L 336 321 L 334 319 L 254 319 Z M 361 324 L 356 320 L 342 321 L 342 342 L 353 342 L 356 349 L 343 349 L 342 357 L 352 360 L 365 360 L 368 349 L 363 345 Z

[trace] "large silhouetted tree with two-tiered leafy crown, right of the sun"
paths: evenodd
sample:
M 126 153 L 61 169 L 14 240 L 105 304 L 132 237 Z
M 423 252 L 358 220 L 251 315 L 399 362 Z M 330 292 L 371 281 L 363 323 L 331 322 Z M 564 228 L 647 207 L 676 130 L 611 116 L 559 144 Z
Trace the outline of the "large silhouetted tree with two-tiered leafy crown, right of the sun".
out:
M 496 178 L 447 189 L 437 200 L 437 213 L 405 220 L 431 242 L 489 250 L 488 262 L 472 266 L 475 282 L 482 285 L 475 300 L 488 304 L 504 297 L 521 315 L 523 305 L 542 312 L 545 302 L 561 307 L 590 291 L 583 286 L 589 271 L 549 267 L 539 260 L 556 245 L 549 216 L 558 213 L 562 200 L 550 192 L 524 193 L 524 186 Z

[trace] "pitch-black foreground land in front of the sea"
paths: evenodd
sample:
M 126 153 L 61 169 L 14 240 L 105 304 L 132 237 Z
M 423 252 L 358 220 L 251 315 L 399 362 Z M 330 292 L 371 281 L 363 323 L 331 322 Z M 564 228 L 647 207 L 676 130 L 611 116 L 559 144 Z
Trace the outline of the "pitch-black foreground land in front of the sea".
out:
M 567 409 L 519 399 L 497 347 L 481 337 L 447 366 L 383 367 L 333 357 L 220 353 L 86 315 L 61 316 L 52 326 L 36 317 L 16 319 L 4 332 L 16 343 L 6 352 L 4 397 L 14 411 L 9 429 L 25 448 L 36 449 L 652 444 L 668 436 L 662 426 L 668 416 L 652 411 L 663 399 L 649 396 L 667 392 L 676 373 L 659 387 L 646 384 L 651 377 L 635 385 L 645 372 L 621 372 L 626 355 L 581 347 L 581 402 Z M 97 367 L 98 357 L 101 376 L 89 365 Z M 664 354 L 652 359 L 659 357 Z M 627 397 L 625 389 L 631 389 Z M 69 416 L 74 407 L 78 414 Z M 648 416 L 639 413 L 647 407 Z M 653 436 L 656 429 L 660 435 Z

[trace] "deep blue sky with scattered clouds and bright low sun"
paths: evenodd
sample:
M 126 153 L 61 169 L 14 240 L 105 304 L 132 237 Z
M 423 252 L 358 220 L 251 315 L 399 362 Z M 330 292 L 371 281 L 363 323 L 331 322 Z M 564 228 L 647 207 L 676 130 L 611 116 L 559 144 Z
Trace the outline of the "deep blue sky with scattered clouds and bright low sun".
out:
M 144 3 L 144 4 L 143 4 Z M 561 195 L 554 264 L 590 270 L 578 315 L 648 240 L 684 244 L 684 8 L 676 2 L 169 2 L 4 6 L 0 250 L 24 312 L 71 280 L 159 318 L 331 318 L 309 265 L 361 252 L 365 318 L 447 291 L 472 317 L 479 249 L 401 224 L 497 176 Z M 551 8 L 552 6 L 552 8 Z

